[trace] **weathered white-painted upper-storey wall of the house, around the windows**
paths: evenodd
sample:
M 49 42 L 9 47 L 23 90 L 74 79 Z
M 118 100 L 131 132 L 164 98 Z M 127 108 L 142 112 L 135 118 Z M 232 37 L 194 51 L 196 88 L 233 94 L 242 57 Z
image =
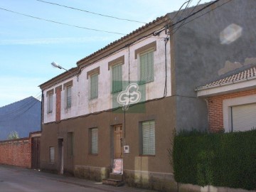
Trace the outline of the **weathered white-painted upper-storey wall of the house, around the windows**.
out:
M 89 65 L 82 69 L 79 75 L 79 81 L 76 77 L 69 78 L 61 83 L 50 87 L 48 90 L 55 89 L 59 85 L 64 85 L 65 82 L 73 80 L 72 87 L 72 105 L 70 109 L 65 108 L 65 89 L 61 92 L 61 119 L 78 117 L 84 114 L 110 110 L 112 108 L 112 93 L 111 93 L 111 70 L 108 70 L 108 62 L 124 55 L 124 65 L 122 65 L 122 80 L 137 81 L 139 80 L 139 57 L 135 59 L 134 51 L 142 46 L 156 41 L 156 51 L 154 51 L 154 81 L 146 83 L 146 100 L 153 100 L 164 96 L 165 81 L 167 82 L 167 95 L 171 96 L 171 55 L 170 42 L 166 44 L 166 70 L 165 70 L 165 42 L 166 34 L 161 32 L 160 36 L 146 38 L 139 43 L 135 43 L 129 48 L 119 50 L 107 58 L 97 61 L 93 65 Z M 87 79 L 87 72 L 100 67 L 98 75 L 98 98 L 90 100 L 90 78 Z M 166 77 L 167 74 L 167 77 Z M 55 105 L 56 94 L 53 94 L 53 112 L 47 113 L 47 98 L 44 90 L 44 123 L 55 122 Z

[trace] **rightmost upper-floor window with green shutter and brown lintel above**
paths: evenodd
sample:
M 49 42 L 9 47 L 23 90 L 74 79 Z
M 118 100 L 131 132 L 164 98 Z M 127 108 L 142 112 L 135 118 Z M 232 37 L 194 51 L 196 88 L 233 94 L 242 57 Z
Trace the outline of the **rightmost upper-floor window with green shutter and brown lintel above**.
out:
M 139 56 L 139 80 L 141 83 L 154 81 L 154 51 L 156 51 L 156 41 L 135 50 L 135 59 Z

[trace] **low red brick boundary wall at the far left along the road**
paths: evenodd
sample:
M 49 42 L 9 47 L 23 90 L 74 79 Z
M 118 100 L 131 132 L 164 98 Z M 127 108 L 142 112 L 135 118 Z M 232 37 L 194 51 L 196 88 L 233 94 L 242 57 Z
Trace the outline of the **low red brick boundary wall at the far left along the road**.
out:
M 31 168 L 31 138 L 0 142 L 0 164 Z

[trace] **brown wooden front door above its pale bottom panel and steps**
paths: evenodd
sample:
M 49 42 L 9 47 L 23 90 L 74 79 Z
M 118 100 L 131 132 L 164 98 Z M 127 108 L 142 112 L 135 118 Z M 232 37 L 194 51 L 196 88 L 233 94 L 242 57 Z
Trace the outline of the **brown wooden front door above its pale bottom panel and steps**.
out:
M 122 125 L 114 126 L 114 159 L 122 159 Z

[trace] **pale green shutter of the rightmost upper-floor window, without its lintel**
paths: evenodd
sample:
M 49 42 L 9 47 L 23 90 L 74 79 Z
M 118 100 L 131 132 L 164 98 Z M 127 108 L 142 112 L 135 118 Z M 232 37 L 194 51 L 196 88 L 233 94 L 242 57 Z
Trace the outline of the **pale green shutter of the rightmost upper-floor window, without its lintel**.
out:
M 139 55 L 140 58 L 140 80 L 142 82 L 154 81 L 154 52 L 150 51 Z

